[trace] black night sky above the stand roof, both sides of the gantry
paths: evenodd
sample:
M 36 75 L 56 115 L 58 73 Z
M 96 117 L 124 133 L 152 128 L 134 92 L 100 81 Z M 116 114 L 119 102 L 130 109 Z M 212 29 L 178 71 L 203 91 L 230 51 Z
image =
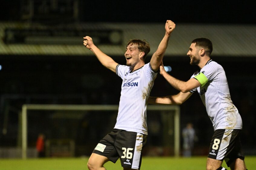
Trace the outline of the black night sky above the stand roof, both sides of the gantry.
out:
M 48 0 L 49 1 L 49 0 Z M 36 2 L 36 1 L 35 1 Z M 64 1 L 62 1 L 64 2 Z M 17 20 L 20 0 L 1 1 L 0 20 Z M 256 24 L 252 2 L 247 1 L 79 1 L 81 22 Z

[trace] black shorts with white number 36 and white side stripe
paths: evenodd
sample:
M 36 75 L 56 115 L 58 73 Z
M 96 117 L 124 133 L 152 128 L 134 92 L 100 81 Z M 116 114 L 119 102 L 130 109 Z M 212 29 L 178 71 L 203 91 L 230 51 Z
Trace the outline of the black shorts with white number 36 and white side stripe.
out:
M 139 169 L 146 138 L 145 134 L 113 129 L 100 140 L 93 153 L 106 156 L 114 163 L 120 158 L 123 167 Z

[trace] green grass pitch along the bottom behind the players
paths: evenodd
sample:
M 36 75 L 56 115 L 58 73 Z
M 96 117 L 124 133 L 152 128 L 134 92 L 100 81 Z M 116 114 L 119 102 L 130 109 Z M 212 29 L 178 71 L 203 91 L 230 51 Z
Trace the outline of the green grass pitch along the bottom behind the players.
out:
M 141 169 L 151 170 L 199 170 L 205 169 L 207 156 L 191 158 L 143 157 Z M 82 170 L 87 169 L 88 158 L 51 158 L 51 159 L 0 159 L 0 170 Z M 247 168 L 256 169 L 256 156 L 246 156 Z M 223 167 L 229 169 L 224 162 Z M 120 170 L 121 163 L 107 162 L 107 170 Z

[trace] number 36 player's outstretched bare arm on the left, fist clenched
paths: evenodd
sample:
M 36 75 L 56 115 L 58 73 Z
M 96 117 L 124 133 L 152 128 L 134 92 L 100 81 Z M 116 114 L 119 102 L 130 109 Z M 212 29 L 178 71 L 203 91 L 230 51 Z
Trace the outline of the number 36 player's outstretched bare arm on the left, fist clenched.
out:
M 113 72 L 116 72 L 116 67 L 118 63 L 116 63 L 111 57 L 103 53 L 97 46 L 94 45 L 92 38 L 89 36 L 84 37 L 84 46 L 87 49 L 90 49 L 94 55 L 98 58 L 100 63 L 106 68 L 110 69 Z

